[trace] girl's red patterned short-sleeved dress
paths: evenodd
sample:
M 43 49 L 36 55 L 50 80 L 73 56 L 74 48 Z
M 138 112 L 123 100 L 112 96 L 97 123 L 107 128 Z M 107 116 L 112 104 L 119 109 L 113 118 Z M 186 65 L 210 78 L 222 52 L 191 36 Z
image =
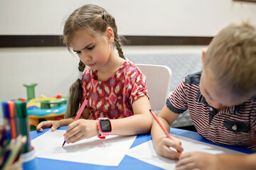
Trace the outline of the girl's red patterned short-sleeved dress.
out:
M 132 103 L 141 96 L 148 96 L 146 77 L 132 62 L 124 61 L 106 81 L 97 81 L 97 70 L 89 68 L 84 72 L 82 101 L 88 98 L 88 119 L 117 119 L 134 115 Z

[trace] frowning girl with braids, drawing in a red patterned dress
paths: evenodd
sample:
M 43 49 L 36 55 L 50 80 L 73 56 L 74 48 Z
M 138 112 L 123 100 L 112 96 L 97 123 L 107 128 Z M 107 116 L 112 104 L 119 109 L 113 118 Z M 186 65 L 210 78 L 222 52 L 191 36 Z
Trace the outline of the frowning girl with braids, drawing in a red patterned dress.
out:
M 82 77 L 70 87 L 68 108 L 63 120 L 48 120 L 37 130 L 68 125 L 67 143 L 101 135 L 97 118 L 109 118 L 112 135 L 137 135 L 149 132 L 151 115 L 146 78 L 125 60 L 114 18 L 104 8 L 85 5 L 65 21 L 63 42 L 80 58 Z M 117 47 L 119 56 L 112 45 Z M 85 69 L 85 65 L 90 67 Z M 74 122 L 79 104 L 88 98 L 81 119 Z M 122 119 L 121 119 L 122 118 Z

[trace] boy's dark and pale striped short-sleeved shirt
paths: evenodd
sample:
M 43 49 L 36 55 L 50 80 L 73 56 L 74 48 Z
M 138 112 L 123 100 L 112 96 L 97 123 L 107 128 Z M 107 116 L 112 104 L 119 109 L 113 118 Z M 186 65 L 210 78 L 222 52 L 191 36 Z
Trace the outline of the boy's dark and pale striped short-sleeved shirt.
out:
M 174 113 L 188 109 L 196 130 L 207 140 L 256 151 L 256 98 L 217 113 L 201 95 L 200 78 L 201 72 L 186 76 L 169 96 L 166 106 Z

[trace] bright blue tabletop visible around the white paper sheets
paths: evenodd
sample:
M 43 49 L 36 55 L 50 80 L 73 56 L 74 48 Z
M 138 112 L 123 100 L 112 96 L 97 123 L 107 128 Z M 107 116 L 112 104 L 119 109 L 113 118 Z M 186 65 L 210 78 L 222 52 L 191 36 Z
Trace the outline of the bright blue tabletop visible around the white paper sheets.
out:
M 66 130 L 67 126 L 65 127 L 60 127 L 58 130 Z M 37 131 L 32 131 L 31 134 L 31 140 L 35 139 L 36 137 L 42 135 L 43 133 L 47 132 L 49 129 L 43 130 L 43 132 L 37 132 Z M 193 140 L 198 140 L 201 142 L 206 142 L 208 144 L 216 145 L 213 144 L 212 142 L 209 142 L 206 140 L 204 137 L 201 137 L 197 132 L 191 132 L 188 130 L 181 130 L 181 129 L 176 129 L 176 128 L 171 128 L 170 131 L 171 134 L 175 135 L 180 135 L 183 137 L 188 137 Z M 136 147 L 137 145 L 140 145 L 144 142 L 147 142 L 151 140 L 151 135 L 138 135 L 134 143 L 132 144 L 132 147 Z M 244 152 L 247 154 L 252 154 L 255 153 L 255 151 L 252 151 L 250 149 L 244 148 L 244 147 L 229 147 L 229 146 L 223 146 L 223 145 L 217 145 L 220 147 L 225 147 L 228 149 L 233 149 L 239 152 Z M 131 147 L 131 148 L 132 148 Z M 133 157 L 129 157 L 125 155 L 124 159 L 122 159 L 122 162 L 119 164 L 119 166 L 100 166 L 100 165 L 95 165 L 95 164 L 82 164 L 82 163 L 77 163 L 77 162 L 65 162 L 65 161 L 60 161 L 60 160 L 55 160 L 55 159 L 44 159 L 44 158 L 39 158 L 36 157 L 36 162 L 37 162 L 37 170 L 56 170 L 56 169 L 61 169 L 61 170 L 70 170 L 70 169 L 161 169 L 157 166 L 151 165 L 151 164 L 146 164 L 145 162 L 142 162 L 138 159 L 135 159 Z

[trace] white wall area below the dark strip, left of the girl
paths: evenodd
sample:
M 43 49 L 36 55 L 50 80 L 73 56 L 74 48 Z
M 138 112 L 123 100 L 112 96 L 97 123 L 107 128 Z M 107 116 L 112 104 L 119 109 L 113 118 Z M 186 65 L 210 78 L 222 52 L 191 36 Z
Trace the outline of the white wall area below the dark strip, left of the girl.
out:
M 0 48 L 0 101 L 27 98 L 23 84 L 29 83 L 38 84 L 36 98 L 68 96 L 78 75 L 78 61 L 66 47 Z M 1 114 L 2 110 L 0 125 Z

